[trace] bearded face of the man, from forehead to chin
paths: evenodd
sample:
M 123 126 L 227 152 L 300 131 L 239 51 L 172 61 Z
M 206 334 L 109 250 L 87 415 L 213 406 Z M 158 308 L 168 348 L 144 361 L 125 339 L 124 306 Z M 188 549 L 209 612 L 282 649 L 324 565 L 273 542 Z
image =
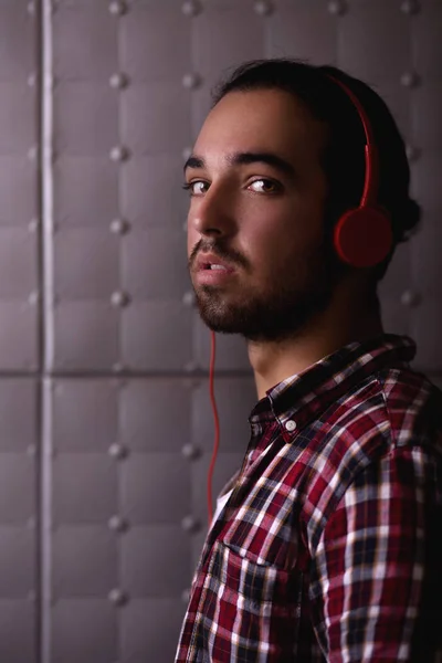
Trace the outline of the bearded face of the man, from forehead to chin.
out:
M 325 141 L 283 91 L 232 92 L 210 112 L 186 180 L 190 275 L 211 329 L 282 340 L 329 304 Z

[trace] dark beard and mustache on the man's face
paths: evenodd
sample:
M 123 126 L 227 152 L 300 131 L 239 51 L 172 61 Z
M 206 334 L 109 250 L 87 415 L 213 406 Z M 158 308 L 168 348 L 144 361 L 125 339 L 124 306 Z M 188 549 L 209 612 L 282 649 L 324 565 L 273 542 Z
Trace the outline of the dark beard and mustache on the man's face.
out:
M 324 242 L 311 255 L 293 260 L 290 265 L 275 265 L 271 282 L 260 290 L 244 287 L 234 301 L 217 286 L 193 287 L 201 319 L 212 332 L 240 334 L 251 341 L 282 341 L 301 336 L 327 309 L 339 278 L 337 259 L 327 246 Z M 199 249 L 197 244 L 190 266 Z M 244 257 L 221 245 L 203 250 L 249 267 Z

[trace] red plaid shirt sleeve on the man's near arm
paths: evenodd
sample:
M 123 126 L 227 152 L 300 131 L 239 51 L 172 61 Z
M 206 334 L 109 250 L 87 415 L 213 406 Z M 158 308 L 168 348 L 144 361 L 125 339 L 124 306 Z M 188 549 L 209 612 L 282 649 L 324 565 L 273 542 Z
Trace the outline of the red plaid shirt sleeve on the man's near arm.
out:
M 440 461 L 396 448 L 346 490 L 312 564 L 311 608 L 328 663 L 441 661 Z

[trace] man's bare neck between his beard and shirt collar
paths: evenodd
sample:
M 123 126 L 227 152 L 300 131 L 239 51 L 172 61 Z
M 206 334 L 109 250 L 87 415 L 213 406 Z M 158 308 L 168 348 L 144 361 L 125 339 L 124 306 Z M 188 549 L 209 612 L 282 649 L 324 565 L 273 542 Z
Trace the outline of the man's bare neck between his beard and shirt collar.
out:
M 275 343 L 249 343 L 249 359 L 252 365 L 257 398 L 266 391 L 306 370 L 319 359 L 345 345 L 373 338 L 383 333 L 380 313 L 377 311 L 352 311 L 347 308 L 340 316 L 326 312 L 307 329 L 295 337 Z

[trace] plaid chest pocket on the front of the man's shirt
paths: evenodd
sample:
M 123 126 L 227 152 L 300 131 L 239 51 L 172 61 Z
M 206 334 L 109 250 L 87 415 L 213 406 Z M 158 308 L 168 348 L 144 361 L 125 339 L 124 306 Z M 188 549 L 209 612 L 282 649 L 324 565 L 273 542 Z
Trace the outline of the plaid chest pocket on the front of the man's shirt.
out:
M 204 587 L 200 613 L 211 635 L 207 638 L 211 661 L 295 660 L 303 594 L 299 571 L 259 565 L 217 541 Z

